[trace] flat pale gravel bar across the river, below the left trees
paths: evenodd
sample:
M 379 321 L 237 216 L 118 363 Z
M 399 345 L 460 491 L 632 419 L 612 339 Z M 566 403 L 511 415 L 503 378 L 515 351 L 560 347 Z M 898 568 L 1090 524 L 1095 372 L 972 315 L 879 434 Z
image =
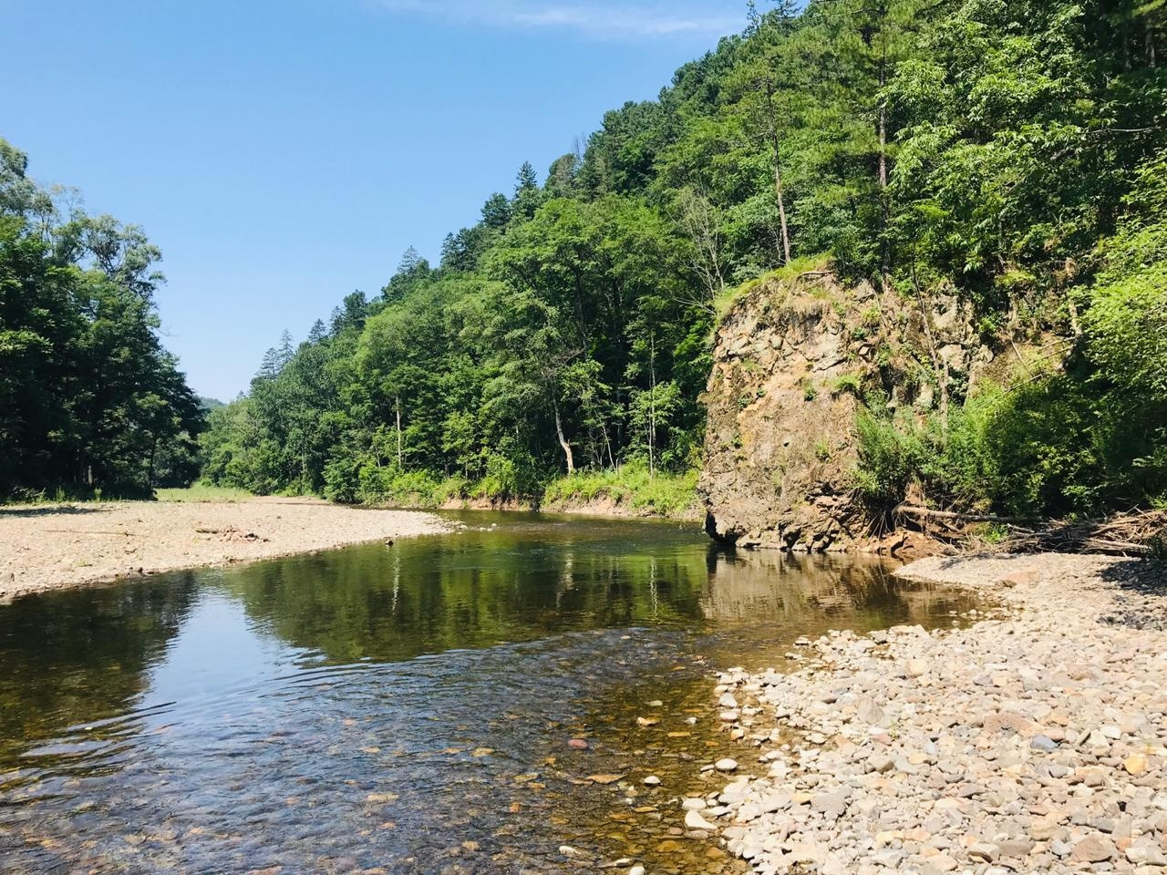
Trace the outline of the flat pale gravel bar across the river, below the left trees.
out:
M 448 528 L 429 513 L 310 498 L 6 506 L 0 508 L 0 598 Z

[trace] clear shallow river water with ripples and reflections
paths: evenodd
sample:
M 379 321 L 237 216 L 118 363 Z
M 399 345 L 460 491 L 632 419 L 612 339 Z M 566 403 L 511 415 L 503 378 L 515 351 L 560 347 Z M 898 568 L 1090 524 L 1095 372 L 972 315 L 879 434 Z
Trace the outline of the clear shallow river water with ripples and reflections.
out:
M 692 526 L 456 516 L 0 608 L 0 870 L 740 872 L 678 828 L 703 764 L 756 758 L 712 672 L 970 607 Z

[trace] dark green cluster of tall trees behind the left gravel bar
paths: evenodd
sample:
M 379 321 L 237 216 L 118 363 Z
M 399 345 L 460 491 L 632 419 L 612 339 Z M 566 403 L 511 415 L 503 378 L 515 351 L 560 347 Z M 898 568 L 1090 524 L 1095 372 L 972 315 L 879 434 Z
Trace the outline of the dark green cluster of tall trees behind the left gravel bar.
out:
M 159 341 L 160 251 L 26 170 L 0 139 L 0 499 L 189 483 L 203 414 Z

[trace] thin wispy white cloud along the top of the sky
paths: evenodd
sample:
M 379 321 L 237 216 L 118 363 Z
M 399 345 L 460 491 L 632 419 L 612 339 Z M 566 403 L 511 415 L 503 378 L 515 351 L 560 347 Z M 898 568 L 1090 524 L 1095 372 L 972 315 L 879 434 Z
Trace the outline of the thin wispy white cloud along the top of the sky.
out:
M 722 36 L 740 30 L 745 14 L 711 15 L 708 2 L 613 2 L 578 0 L 376 0 L 382 8 L 441 18 L 460 24 L 489 24 L 530 30 L 573 30 L 593 38 Z M 700 7 L 705 7 L 701 12 Z M 725 4 L 724 7 L 728 7 Z M 745 7 L 742 7 L 745 8 Z

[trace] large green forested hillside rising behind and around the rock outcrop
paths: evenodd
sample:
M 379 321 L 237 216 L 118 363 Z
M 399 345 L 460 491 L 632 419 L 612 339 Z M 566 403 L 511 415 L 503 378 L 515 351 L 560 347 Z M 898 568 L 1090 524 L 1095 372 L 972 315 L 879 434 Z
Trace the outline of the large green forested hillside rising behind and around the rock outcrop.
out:
M 380 501 L 683 474 L 735 289 L 830 265 L 895 290 L 874 323 L 956 294 L 985 344 L 1046 350 L 974 397 L 936 350 L 881 350 L 936 400 L 855 387 L 873 503 L 908 484 L 1039 513 L 1162 501 L 1165 27 L 1163 0 L 752 9 L 541 183 L 523 164 L 440 264 L 407 252 L 379 294 L 286 336 L 211 414 L 204 475 Z

